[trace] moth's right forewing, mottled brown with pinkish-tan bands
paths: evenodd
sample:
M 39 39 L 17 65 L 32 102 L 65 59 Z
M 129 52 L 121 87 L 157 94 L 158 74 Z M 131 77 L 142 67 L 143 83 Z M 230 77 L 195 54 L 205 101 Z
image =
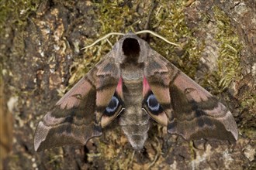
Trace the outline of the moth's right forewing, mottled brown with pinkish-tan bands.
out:
M 150 49 L 144 74 L 168 115 L 168 132 L 185 139 L 237 140 L 234 117 L 216 97 Z

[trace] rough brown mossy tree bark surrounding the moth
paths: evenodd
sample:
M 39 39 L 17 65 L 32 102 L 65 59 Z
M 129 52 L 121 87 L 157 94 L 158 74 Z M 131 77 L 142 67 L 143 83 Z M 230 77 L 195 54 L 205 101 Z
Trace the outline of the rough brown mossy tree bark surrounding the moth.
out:
M 14 5 L 6 1 L 2 7 L 0 168 L 256 168 L 254 0 L 46 0 Z M 102 137 L 85 146 L 35 152 L 33 133 L 40 119 L 111 46 L 103 40 L 92 48 L 81 48 L 106 33 L 140 31 L 145 26 L 182 44 L 182 49 L 176 49 L 144 36 L 153 49 L 223 101 L 237 121 L 238 141 L 185 141 L 153 124 L 144 151 L 137 152 L 113 121 Z

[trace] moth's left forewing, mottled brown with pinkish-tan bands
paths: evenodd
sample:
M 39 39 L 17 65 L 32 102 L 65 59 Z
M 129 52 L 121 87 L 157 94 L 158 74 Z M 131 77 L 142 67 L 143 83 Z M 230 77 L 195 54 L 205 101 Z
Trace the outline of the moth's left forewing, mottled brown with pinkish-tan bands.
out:
M 110 54 L 43 117 L 34 137 L 36 151 L 61 145 L 85 145 L 89 138 L 102 134 L 100 118 L 120 76 Z

